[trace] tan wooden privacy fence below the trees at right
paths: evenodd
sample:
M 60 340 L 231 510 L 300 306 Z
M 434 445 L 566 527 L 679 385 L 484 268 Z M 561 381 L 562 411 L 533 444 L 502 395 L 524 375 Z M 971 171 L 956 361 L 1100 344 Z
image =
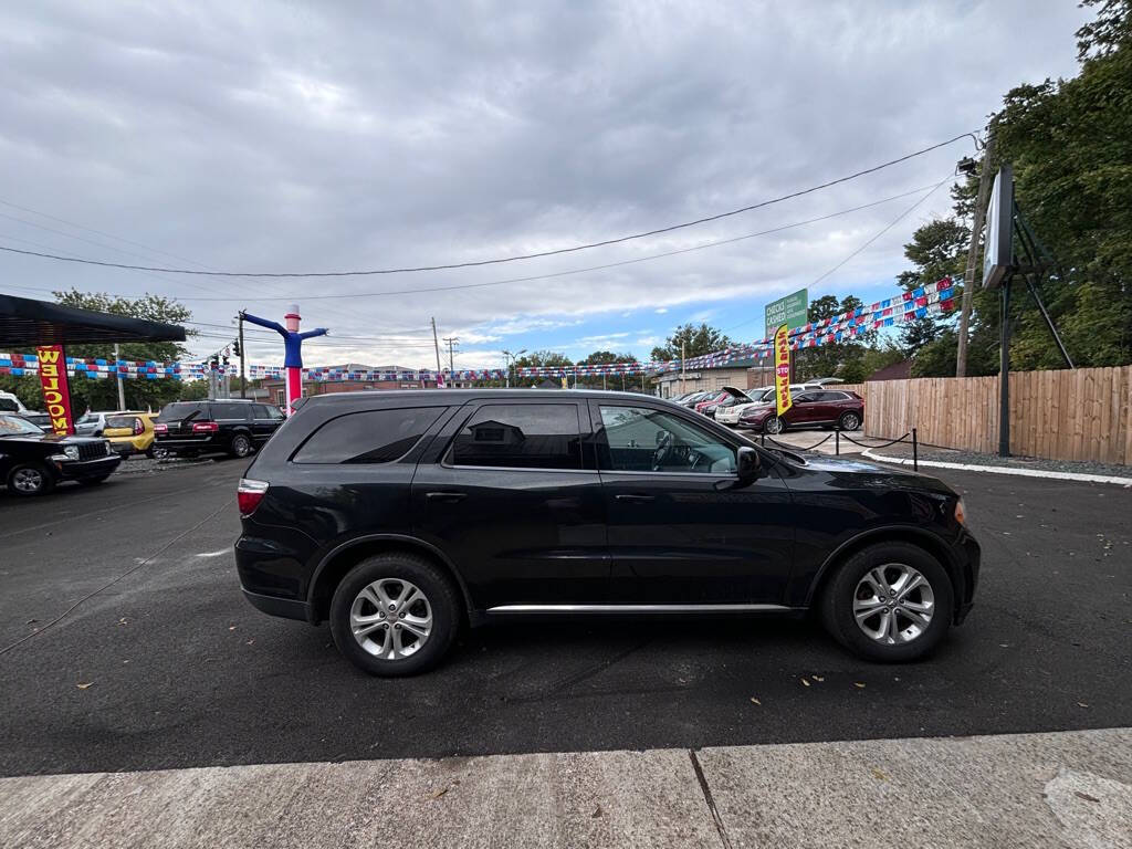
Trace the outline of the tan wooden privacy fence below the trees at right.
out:
M 1011 454 L 1132 465 L 1132 366 L 1010 375 Z M 831 387 L 832 388 L 832 387 Z M 865 432 L 998 451 L 997 377 L 925 377 L 839 386 L 865 398 Z

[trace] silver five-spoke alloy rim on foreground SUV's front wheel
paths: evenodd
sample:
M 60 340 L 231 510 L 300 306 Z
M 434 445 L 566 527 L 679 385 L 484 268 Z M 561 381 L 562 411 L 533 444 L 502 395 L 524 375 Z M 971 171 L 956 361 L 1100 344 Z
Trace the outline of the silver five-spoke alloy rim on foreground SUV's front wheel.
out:
M 857 627 L 882 645 L 901 645 L 919 638 L 935 615 L 935 592 L 911 566 L 889 563 L 865 573 L 852 601 Z

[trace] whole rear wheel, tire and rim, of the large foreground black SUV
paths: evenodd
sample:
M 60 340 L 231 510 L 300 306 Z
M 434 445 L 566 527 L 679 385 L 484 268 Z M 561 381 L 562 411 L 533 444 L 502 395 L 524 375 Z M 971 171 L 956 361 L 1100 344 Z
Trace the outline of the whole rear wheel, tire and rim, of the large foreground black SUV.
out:
M 372 675 L 414 675 L 440 661 L 460 625 L 448 577 L 413 555 L 377 555 L 354 566 L 331 600 L 334 643 Z

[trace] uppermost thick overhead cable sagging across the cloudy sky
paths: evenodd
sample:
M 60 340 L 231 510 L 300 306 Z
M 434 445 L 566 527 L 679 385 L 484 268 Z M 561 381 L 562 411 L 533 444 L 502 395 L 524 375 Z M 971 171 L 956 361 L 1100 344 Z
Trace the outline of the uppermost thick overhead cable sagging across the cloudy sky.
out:
M 839 183 L 849 182 L 850 180 L 856 180 L 859 177 L 865 177 L 866 174 L 876 173 L 892 165 L 898 165 L 901 162 L 907 162 L 908 160 L 915 158 L 917 156 L 923 156 L 926 153 L 936 151 L 941 147 L 946 147 L 947 145 L 954 144 L 962 138 L 971 136 L 970 132 L 963 132 L 959 136 L 950 138 L 945 142 L 940 142 L 929 147 L 915 151 L 912 153 L 906 154 L 894 160 L 889 160 L 887 162 L 882 162 L 878 165 L 873 165 L 872 168 L 863 169 L 851 174 L 844 177 L 839 177 L 835 180 L 829 180 L 817 186 L 811 186 L 806 189 L 799 189 L 797 191 L 791 191 L 787 195 L 780 195 L 779 197 L 769 198 L 766 200 L 760 200 L 755 204 L 748 204 L 747 206 L 741 206 L 738 209 L 729 209 L 728 212 L 717 213 L 714 215 L 706 215 L 701 218 L 695 218 L 693 221 L 685 221 L 679 224 L 670 224 L 663 228 L 657 228 L 654 230 L 645 230 L 638 233 L 631 233 L 628 235 L 620 235 L 612 239 L 603 239 L 595 242 L 586 242 L 583 245 L 575 245 L 569 248 L 556 248 L 554 250 L 542 250 L 532 254 L 518 254 L 514 256 L 497 257 L 494 259 L 477 259 L 465 263 L 444 263 L 436 265 L 419 265 L 419 266 L 405 266 L 400 268 L 368 268 L 363 271 L 350 271 L 350 272 L 225 272 L 225 271 L 211 271 L 200 268 L 173 268 L 173 267 L 162 267 L 162 266 L 146 266 L 146 265 L 128 265 L 125 263 L 108 263 L 97 259 L 87 259 L 85 257 L 74 257 L 63 256 L 59 254 L 41 254 L 31 250 L 20 250 L 18 248 L 10 248 L 6 246 L 0 246 L 0 250 L 5 250 L 11 254 L 22 254 L 25 256 L 38 257 L 41 259 L 53 259 L 61 263 L 80 263 L 83 265 L 97 265 L 106 268 L 125 268 L 129 271 L 144 271 L 144 272 L 157 272 L 163 274 L 190 274 L 195 276 L 205 277 L 357 277 L 357 276 L 371 276 L 379 274 L 402 274 L 410 272 L 438 272 L 438 271 L 449 271 L 453 268 L 473 268 L 484 265 L 499 265 L 501 263 L 514 263 L 522 259 L 537 259 L 539 257 L 550 257 L 558 256 L 561 254 L 574 254 L 582 250 L 590 250 L 592 248 L 601 248 L 609 245 L 619 245 L 623 242 L 632 241 L 634 239 L 645 239 L 651 235 L 661 235 L 662 233 L 670 233 L 676 230 L 684 230 L 686 228 L 696 226 L 698 224 L 706 224 L 712 221 L 720 221 L 722 218 L 728 218 L 734 215 L 740 215 L 743 213 L 752 212 L 754 209 L 761 209 L 773 204 L 780 204 L 783 200 L 790 200 L 804 195 L 809 195 L 815 191 L 821 191 L 822 189 L 827 189 L 831 186 L 838 186 Z M 199 265 L 197 263 L 196 265 Z

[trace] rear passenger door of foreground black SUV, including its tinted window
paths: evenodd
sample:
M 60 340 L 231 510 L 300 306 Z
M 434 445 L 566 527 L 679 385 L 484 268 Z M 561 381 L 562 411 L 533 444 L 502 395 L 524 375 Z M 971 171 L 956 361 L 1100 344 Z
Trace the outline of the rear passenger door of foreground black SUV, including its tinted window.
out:
M 584 402 L 490 400 L 454 419 L 412 486 L 414 533 L 478 609 L 594 604 L 609 584 L 601 480 Z

